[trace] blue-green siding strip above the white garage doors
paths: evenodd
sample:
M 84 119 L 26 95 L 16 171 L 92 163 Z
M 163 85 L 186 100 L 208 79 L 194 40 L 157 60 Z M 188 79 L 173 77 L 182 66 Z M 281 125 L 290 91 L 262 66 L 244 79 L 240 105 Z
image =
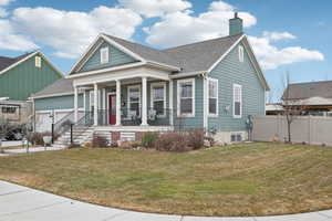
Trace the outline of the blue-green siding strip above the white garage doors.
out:
M 79 95 L 79 107 L 83 107 L 83 95 Z M 74 95 L 45 97 L 34 99 L 35 110 L 74 108 Z

